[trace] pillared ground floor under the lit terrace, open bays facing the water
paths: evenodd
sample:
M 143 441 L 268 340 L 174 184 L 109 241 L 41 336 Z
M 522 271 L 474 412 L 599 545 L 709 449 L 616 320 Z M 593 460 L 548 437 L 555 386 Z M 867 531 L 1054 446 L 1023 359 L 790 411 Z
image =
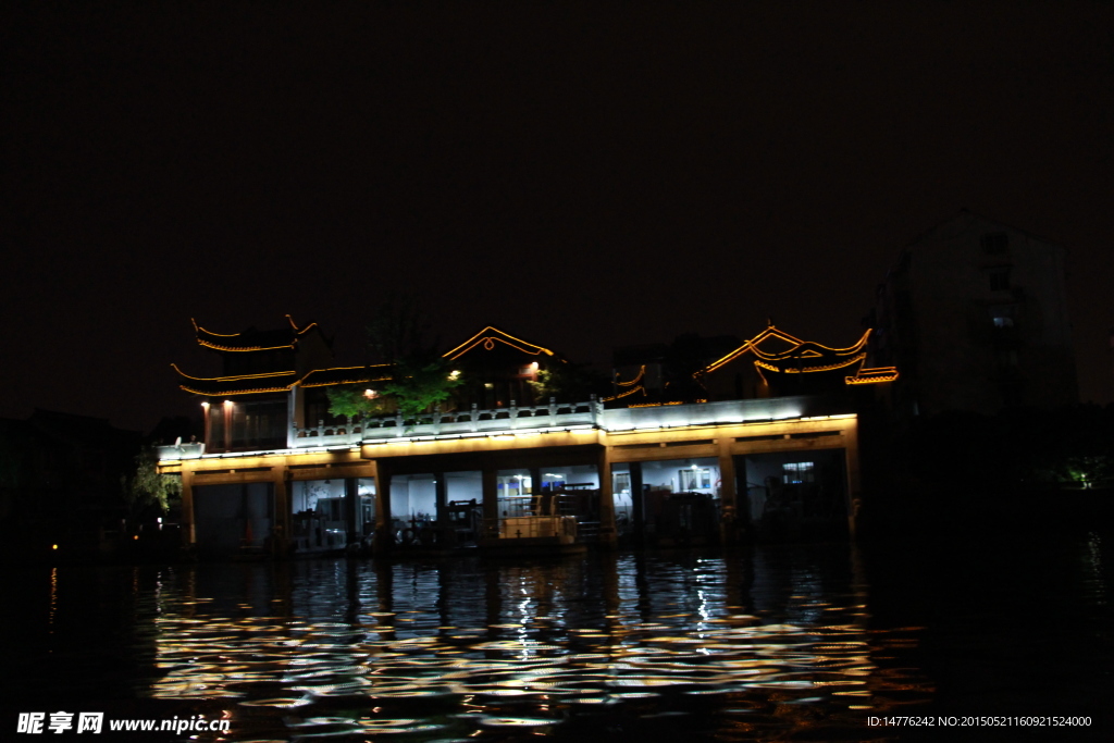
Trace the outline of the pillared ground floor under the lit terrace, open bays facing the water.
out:
M 853 531 L 854 416 L 164 461 L 197 554 L 695 546 Z

